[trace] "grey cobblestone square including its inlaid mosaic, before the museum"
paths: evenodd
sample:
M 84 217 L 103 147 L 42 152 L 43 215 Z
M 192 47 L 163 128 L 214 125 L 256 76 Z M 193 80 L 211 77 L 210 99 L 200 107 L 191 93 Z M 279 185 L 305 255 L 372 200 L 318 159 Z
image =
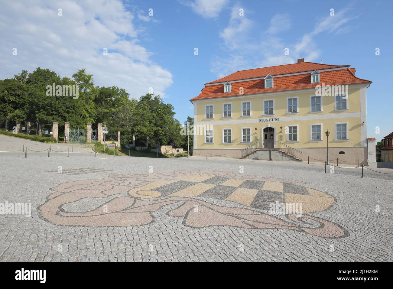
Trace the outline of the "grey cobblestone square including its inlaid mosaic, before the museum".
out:
M 392 175 L 222 158 L 0 158 L 0 203 L 31 203 L 31 217 L 0 215 L 0 261 L 393 261 Z M 302 214 L 270 214 L 272 203 Z

